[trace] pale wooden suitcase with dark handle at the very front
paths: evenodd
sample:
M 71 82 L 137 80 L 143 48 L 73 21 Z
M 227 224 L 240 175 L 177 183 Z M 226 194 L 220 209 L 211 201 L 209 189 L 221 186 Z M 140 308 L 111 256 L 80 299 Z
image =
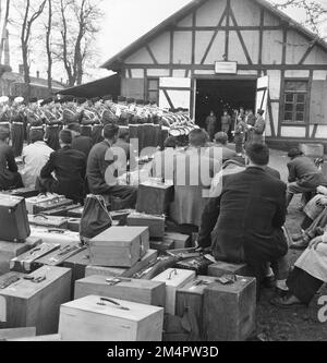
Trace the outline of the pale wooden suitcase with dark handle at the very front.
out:
M 164 308 L 86 297 L 60 308 L 63 341 L 161 341 Z

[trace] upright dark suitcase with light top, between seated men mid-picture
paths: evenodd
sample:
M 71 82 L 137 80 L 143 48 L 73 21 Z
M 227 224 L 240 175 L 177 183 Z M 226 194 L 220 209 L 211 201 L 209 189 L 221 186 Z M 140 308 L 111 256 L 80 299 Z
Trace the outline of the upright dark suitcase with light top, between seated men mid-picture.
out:
M 162 183 L 157 179 L 152 179 L 138 186 L 136 211 L 154 216 L 168 215 L 173 197 L 172 183 Z

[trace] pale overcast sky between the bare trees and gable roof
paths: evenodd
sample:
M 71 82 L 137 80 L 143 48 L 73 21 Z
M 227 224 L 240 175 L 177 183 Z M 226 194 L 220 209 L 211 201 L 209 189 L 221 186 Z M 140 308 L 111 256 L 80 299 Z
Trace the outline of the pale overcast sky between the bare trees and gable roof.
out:
M 317 1 L 327 2 L 327 0 Z M 105 17 L 99 24 L 101 31 L 96 40 L 98 61 L 94 64 L 93 70 L 89 70 L 92 77 L 107 75 L 108 71 L 99 70 L 101 63 L 189 2 L 190 0 L 102 0 Z M 303 19 L 301 10 L 291 10 L 288 14 L 298 21 Z M 327 34 L 327 24 L 325 28 Z M 14 47 L 15 53 L 12 57 L 12 66 L 16 71 L 21 60 L 17 45 Z M 32 72 L 35 73 L 36 70 L 39 70 L 41 75 L 46 76 L 45 64 L 33 64 Z M 55 75 L 60 80 L 62 72 L 57 71 Z

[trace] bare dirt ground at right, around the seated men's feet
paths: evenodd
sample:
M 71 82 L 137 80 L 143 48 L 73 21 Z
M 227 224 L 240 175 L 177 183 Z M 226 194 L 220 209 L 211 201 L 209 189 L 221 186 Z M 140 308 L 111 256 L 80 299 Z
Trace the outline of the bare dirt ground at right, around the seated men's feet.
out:
M 287 181 L 287 158 L 283 153 L 271 152 L 270 165 L 277 168 Z M 300 231 L 303 213 L 299 211 L 300 198 L 294 198 L 287 219 L 287 227 L 291 234 Z M 290 264 L 293 265 L 301 252 L 290 251 Z M 257 307 L 257 331 L 261 340 L 267 341 L 327 341 L 327 323 L 318 320 L 320 306 L 317 300 L 327 295 L 327 286 L 323 287 L 308 308 L 294 307 L 281 310 L 272 306 L 269 300 L 275 297 L 274 290 L 263 290 Z

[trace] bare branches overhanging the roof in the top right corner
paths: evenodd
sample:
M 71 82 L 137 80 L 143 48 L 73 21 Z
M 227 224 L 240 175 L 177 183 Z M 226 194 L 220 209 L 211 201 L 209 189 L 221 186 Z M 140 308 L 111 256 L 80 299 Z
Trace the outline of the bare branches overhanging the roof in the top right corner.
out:
M 303 25 L 314 32 L 317 37 L 323 37 L 320 25 L 327 20 L 327 2 L 317 0 L 283 0 L 274 1 L 276 8 L 287 10 L 290 8 L 298 8 L 305 11 L 306 20 Z

